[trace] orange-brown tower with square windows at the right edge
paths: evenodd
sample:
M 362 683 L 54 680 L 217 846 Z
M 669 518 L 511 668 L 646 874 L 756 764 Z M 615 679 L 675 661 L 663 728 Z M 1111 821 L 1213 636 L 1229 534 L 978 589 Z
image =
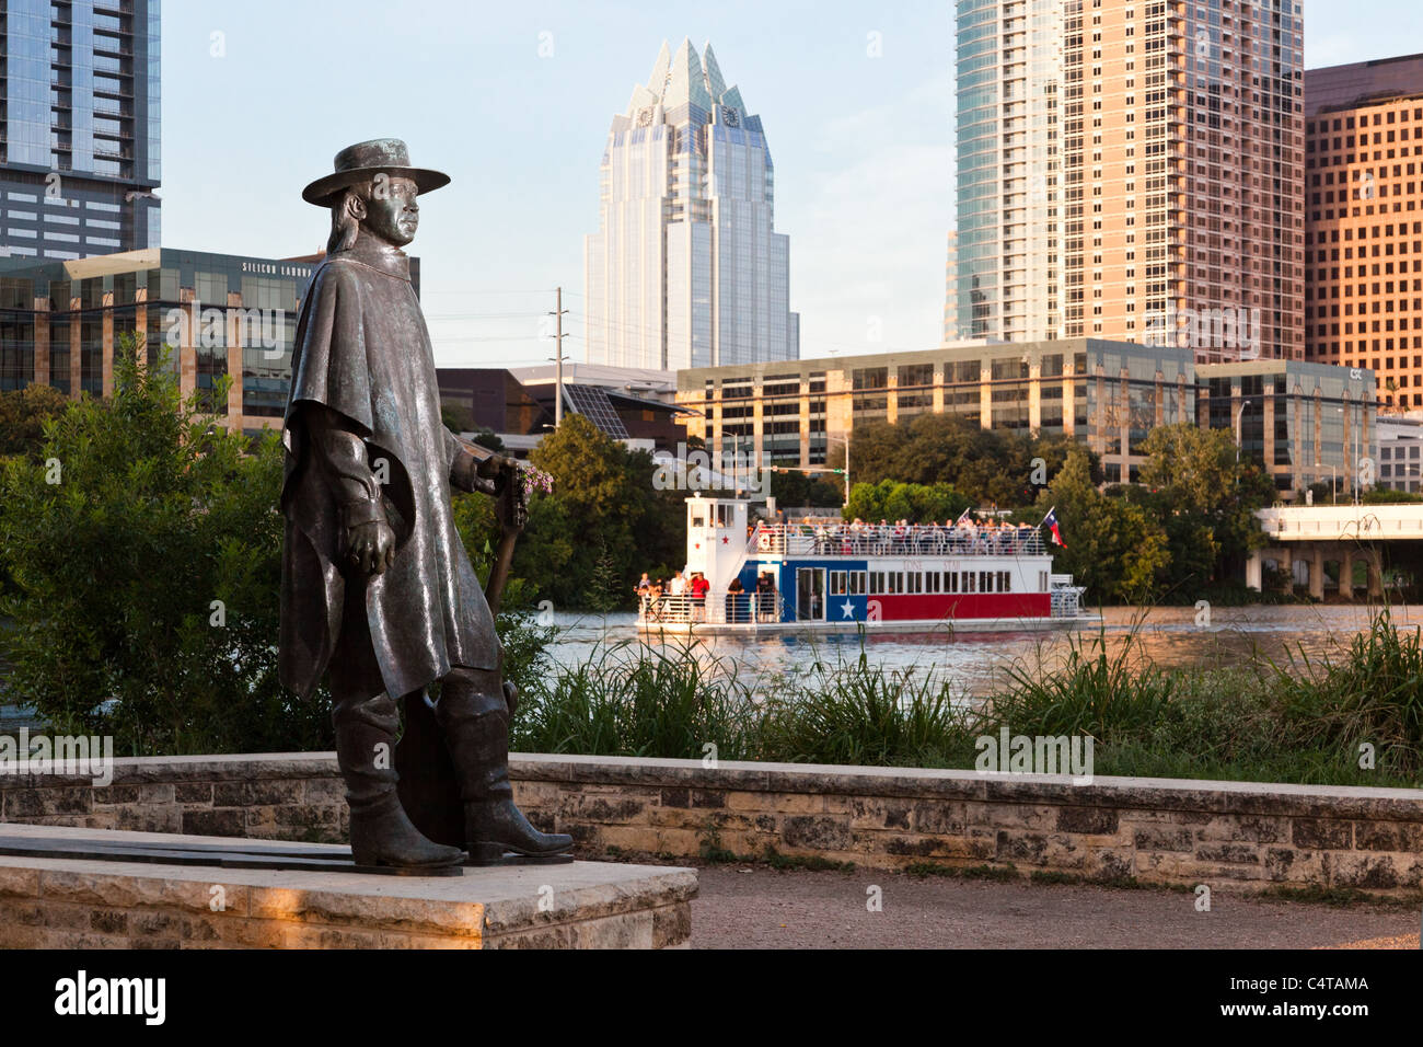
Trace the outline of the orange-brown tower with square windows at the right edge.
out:
M 1423 409 L 1423 54 L 1305 74 L 1305 358 Z

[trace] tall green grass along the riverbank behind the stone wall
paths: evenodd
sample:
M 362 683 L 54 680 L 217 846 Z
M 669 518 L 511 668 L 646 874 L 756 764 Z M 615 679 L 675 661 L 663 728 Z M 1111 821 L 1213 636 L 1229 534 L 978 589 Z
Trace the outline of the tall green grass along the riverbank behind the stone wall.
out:
M 1140 623 L 1073 637 L 1060 661 L 1019 660 L 970 704 L 933 670 L 859 655 L 793 672 L 622 642 L 525 688 L 517 748 L 536 752 L 881 766 L 973 766 L 975 739 L 1087 735 L 1094 772 L 1321 785 L 1414 785 L 1423 772 L 1423 641 L 1386 613 L 1338 657 L 1252 652 L 1212 670 L 1155 665 Z M 1375 766 L 1360 766 L 1369 742 Z

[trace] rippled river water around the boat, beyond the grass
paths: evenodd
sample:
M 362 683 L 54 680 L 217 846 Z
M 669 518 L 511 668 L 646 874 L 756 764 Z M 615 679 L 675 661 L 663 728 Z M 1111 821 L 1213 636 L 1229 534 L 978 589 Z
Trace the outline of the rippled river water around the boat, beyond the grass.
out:
M 922 635 L 813 637 L 706 637 L 692 641 L 696 657 L 720 661 L 737 675 L 766 677 L 777 672 L 805 672 L 818 662 L 865 657 L 888 670 L 929 672 L 953 682 L 965 697 L 989 694 L 1006 679 L 1010 668 L 1035 675 L 1050 672 L 1079 642 L 1104 640 L 1109 651 L 1134 634 L 1137 652 L 1158 665 L 1215 668 L 1259 654 L 1284 662 L 1308 655 L 1338 658 L 1349 640 L 1368 631 L 1375 611 L 1362 604 L 1214 607 L 1208 618 L 1194 607 L 1109 607 L 1099 628 L 1079 632 L 998 632 L 949 635 L 946 630 Z M 1423 608 L 1395 607 L 1393 621 L 1400 627 L 1423 625 Z M 605 644 L 643 642 L 635 628 L 635 615 L 555 615 L 558 638 L 549 648 L 561 665 L 576 664 Z M 667 652 L 686 645 L 686 638 L 666 644 L 646 641 Z

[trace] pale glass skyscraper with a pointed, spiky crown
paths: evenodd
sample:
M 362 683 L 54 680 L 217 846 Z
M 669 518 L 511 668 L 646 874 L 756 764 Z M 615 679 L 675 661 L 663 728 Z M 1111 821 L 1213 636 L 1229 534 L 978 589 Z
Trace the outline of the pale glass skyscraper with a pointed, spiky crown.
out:
M 790 242 L 774 231 L 761 118 L 712 46 L 666 43 L 613 117 L 601 229 L 583 245 L 588 362 L 716 366 L 800 355 Z

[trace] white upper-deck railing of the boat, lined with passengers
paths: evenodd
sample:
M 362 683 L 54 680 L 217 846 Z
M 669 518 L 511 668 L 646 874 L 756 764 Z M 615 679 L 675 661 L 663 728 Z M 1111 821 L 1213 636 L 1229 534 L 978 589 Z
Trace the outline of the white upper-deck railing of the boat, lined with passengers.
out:
M 751 556 L 1043 556 L 1036 527 L 904 524 L 760 524 L 747 538 Z

